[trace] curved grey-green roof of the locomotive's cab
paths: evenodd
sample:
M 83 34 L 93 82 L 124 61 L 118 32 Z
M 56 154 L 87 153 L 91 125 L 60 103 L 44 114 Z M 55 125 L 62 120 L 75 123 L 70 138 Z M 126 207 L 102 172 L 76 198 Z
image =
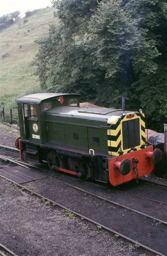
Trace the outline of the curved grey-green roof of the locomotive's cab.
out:
M 36 93 L 17 98 L 16 102 L 18 103 L 31 103 L 31 104 L 40 104 L 41 101 L 51 99 L 54 97 L 69 95 L 79 97 L 80 94 L 69 94 L 69 93 Z

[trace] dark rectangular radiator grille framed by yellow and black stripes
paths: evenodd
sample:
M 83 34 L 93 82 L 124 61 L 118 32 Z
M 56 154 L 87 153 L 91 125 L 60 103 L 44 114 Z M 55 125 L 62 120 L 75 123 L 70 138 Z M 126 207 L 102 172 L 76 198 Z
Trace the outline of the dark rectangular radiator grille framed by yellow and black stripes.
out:
M 140 145 L 140 122 L 135 118 L 122 122 L 123 150 Z

